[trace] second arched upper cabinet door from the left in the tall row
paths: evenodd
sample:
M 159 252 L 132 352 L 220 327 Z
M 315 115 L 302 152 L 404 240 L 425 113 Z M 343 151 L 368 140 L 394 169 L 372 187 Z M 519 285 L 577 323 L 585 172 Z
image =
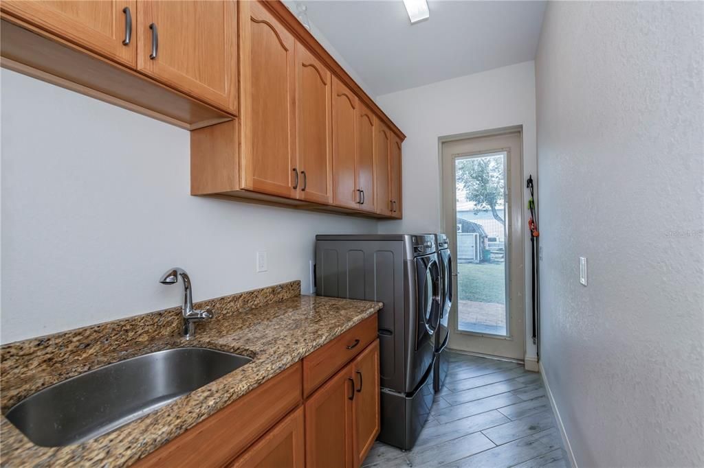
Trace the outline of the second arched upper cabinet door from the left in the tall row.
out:
M 296 43 L 298 198 L 332 202 L 332 82 L 325 65 Z

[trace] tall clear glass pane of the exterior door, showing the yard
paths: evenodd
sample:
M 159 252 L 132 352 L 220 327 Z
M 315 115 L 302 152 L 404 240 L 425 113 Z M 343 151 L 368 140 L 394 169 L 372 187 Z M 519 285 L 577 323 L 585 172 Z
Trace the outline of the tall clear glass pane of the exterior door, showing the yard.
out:
M 455 158 L 458 330 L 508 336 L 505 151 Z

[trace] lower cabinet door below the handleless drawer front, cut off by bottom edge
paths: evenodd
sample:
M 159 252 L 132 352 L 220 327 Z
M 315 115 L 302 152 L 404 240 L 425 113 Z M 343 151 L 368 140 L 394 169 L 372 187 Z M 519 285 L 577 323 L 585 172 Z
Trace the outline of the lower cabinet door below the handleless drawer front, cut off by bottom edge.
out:
M 232 468 L 303 468 L 303 408 L 298 408 L 270 429 L 245 453 L 237 457 Z

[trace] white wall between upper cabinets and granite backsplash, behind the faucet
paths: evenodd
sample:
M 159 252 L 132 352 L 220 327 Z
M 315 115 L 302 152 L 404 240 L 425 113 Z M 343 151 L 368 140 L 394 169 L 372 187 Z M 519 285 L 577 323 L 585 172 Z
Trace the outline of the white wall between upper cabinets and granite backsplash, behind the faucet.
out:
M 3 343 L 180 304 L 158 278 L 182 266 L 194 299 L 301 280 L 317 233 L 374 220 L 189 195 L 189 134 L 1 72 Z M 269 268 L 255 273 L 256 250 Z

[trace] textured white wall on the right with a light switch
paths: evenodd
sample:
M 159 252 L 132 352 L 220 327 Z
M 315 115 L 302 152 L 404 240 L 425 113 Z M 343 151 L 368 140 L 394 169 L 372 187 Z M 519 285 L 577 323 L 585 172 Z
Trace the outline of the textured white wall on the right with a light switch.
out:
M 549 2 L 543 20 L 541 362 L 581 467 L 704 466 L 703 18 Z

